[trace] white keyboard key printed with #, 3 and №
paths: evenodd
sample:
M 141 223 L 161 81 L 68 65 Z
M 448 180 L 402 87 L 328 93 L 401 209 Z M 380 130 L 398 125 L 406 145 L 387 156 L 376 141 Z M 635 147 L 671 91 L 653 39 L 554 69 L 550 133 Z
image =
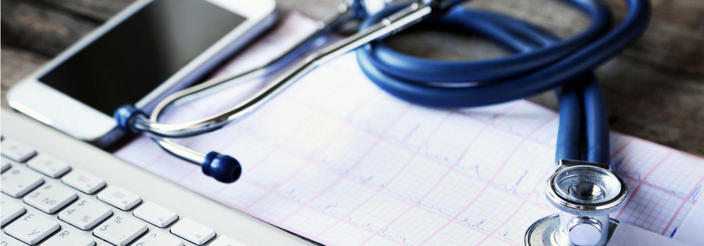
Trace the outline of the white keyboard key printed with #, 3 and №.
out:
M 58 209 L 61 209 L 69 202 L 76 200 L 78 195 L 70 188 L 65 188 L 62 185 L 45 183 L 29 195 L 25 196 L 25 203 L 32 207 L 36 207 L 47 214 L 54 214 Z

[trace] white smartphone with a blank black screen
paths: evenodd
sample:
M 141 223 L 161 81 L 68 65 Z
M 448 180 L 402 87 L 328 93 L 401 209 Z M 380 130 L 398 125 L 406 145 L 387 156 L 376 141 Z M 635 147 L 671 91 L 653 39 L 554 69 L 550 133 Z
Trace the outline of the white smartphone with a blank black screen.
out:
M 8 104 L 106 147 L 122 136 L 113 112 L 196 82 L 275 22 L 273 0 L 138 0 L 7 93 Z

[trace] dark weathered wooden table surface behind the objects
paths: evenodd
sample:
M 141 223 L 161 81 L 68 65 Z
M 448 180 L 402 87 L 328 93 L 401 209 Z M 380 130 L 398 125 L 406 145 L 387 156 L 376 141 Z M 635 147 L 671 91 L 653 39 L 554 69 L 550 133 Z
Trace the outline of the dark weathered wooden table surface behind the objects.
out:
M 0 0 L 1 84 L 5 91 L 63 48 L 100 25 L 132 0 Z M 323 18 L 341 0 L 277 0 L 279 17 L 300 11 Z M 627 9 L 608 0 L 616 22 Z M 557 0 L 476 0 L 552 30 L 560 37 L 583 30 L 589 18 Z M 354 26 L 344 28 L 349 33 Z M 448 60 L 483 59 L 509 52 L 451 27 L 415 28 L 389 44 L 399 51 Z M 704 156 L 704 1 L 653 0 L 653 19 L 643 37 L 596 71 L 603 83 L 611 129 Z M 557 108 L 553 93 L 529 100 Z

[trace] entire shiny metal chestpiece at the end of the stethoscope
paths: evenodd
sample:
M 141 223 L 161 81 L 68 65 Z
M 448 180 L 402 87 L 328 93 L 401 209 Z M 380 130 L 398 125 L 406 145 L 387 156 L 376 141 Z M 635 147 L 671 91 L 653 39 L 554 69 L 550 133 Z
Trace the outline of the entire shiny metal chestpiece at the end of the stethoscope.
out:
M 546 183 L 546 198 L 560 214 L 536 221 L 526 245 L 601 246 L 617 225 L 608 215 L 626 205 L 628 188 L 608 164 L 560 160 Z

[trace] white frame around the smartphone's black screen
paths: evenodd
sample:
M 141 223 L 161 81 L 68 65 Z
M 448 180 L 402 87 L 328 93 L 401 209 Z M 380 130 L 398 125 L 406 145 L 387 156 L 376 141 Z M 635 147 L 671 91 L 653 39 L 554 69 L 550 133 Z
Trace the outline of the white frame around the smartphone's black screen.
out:
M 152 1 L 154 0 L 138 0 L 130 4 L 108 19 L 103 25 L 89 32 L 89 34 L 66 48 L 55 58 L 32 72 L 31 75 L 15 84 L 6 94 L 8 105 L 75 138 L 89 142 L 100 141 L 101 138 L 104 138 L 116 127 L 112 115 L 106 115 L 89 105 L 77 101 L 61 91 L 39 82 L 38 79 Z M 168 93 L 186 86 L 179 84 L 180 82 L 188 80 L 189 77 L 202 75 L 203 71 L 199 70 L 213 66 L 213 60 L 218 60 L 214 58 L 222 58 L 223 53 L 227 53 L 223 51 L 230 49 L 234 51 L 235 48 L 243 46 L 274 22 L 275 2 L 273 0 L 201 1 L 208 1 L 211 4 L 232 11 L 237 15 L 243 16 L 246 20 L 225 34 L 215 44 L 208 47 L 206 51 L 196 56 L 163 84 L 144 96 L 142 100 L 135 103 L 137 108 L 148 112 L 151 111 L 151 108 L 158 103 L 158 100 L 167 96 Z M 70 110 L 67 110 L 67 108 Z M 115 137 L 113 136 L 112 138 Z

